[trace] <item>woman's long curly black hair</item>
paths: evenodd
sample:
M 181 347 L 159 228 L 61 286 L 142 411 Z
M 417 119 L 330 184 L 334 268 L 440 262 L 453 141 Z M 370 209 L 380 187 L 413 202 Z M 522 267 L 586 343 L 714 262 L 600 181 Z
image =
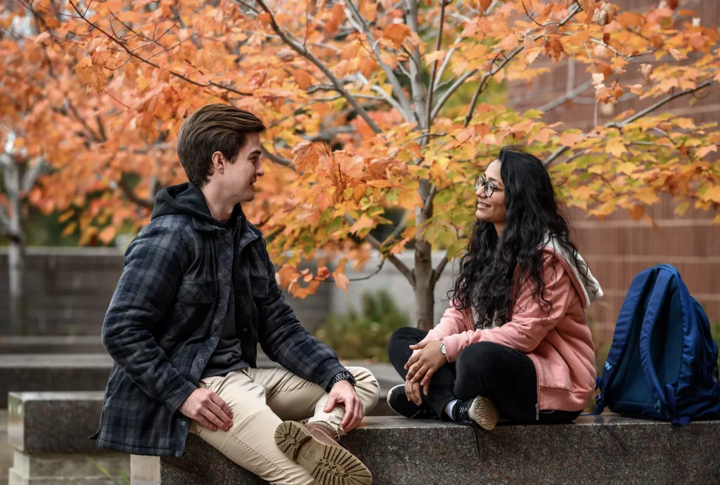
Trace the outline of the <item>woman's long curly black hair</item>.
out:
M 477 221 L 467 252 L 460 258 L 451 296 L 456 308 L 474 309 L 477 328 L 508 321 L 518 266 L 514 283 L 531 281 L 534 301 L 549 316 L 552 304 L 544 298 L 541 250 L 549 237 L 573 259 L 568 263 L 575 263 L 581 274 L 588 273 L 570 240 L 570 226 L 559 211 L 550 174 L 541 160 L 516 147 L 504 147 L 498 160 L 505 185 L 505 228 L 498 236 L 492 222 Z

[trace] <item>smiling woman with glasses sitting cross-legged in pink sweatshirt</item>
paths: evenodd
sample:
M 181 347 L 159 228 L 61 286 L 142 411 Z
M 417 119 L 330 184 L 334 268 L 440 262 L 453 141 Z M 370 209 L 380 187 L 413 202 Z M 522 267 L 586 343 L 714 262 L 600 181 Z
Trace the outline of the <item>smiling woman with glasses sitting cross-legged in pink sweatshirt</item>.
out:
M 570 240 L 544 164 L 505 147 L 475 178 L 477 224 L 440 323 L 397 330 L 387 395 L 406 417 L 491 430 L 575 420 L 595 388 L 584 309 L 602 296 Z

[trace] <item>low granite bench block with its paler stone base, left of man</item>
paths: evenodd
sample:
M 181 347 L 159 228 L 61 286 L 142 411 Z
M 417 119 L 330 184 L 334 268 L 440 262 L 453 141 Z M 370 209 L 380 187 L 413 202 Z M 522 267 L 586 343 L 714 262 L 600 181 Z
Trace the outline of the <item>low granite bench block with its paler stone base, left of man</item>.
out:
M 97 430 L 102 397 L 97 391 L 11 393 L 9 485 L 122 483 L 130 455 L 104 452 L 88 439 Z

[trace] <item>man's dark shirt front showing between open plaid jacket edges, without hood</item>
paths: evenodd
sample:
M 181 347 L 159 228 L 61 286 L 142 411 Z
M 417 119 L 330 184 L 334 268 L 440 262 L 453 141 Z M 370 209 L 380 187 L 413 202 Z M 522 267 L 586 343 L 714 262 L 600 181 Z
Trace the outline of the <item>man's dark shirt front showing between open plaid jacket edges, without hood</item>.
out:
M 240 238 L 240 228 L 235 227 L 237 219 L 231 218 L 228 222 L 218 222 L 218 225 L 228 230 L 233 235 L 233 268 L 238 258 L 238 239 Z M 235 271 L 233 271 L 233 278 Z M 235 327 L 235 281 L 233 279 L 233 291 L 228 296 L 228 314 L 225 317 L 225 325 L 220 332 L 220 339 L 217 347 L 207 360 L 207 366 L 202 371 L 201 379 L 212 376 L 225 376 L 233 371 L 240 371 L 247 368 L 248 363 L 243 361 L 243 350 L 240 349 L 240 338 L 238 338 L 238 330 Z

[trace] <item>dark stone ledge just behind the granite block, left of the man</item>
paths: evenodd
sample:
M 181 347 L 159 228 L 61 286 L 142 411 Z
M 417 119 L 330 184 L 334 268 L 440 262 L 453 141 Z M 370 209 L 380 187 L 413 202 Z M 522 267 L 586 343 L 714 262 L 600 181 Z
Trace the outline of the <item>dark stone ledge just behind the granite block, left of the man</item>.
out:
M 0 408 L 9 392 L 101 391 L 111 368 L 102 354 L 0 355 Z

